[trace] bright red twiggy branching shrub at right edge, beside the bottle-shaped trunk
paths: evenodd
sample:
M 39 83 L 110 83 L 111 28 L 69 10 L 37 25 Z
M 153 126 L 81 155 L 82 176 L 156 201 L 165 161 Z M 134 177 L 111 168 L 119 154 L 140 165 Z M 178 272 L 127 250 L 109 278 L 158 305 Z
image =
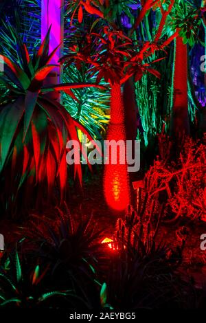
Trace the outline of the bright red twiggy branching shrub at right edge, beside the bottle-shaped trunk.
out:
M 190 139 L 175 164 L 155 161 L 144 179 L 148 210 L 152 201 L 158 201 L 159 194 L 165 192 L 168 197 L 165 197 L 164 214 L 168 216 L 170 212 L 172 221 L 183 216 L 206 221 L 205 164 L 205 146 Z

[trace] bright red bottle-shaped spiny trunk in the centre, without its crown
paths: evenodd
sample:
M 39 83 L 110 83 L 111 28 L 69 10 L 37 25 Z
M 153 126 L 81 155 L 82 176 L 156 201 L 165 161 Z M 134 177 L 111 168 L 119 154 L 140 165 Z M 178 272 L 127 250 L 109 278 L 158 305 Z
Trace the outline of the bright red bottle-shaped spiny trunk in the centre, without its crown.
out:
M 123 140 L 126 149 L 124 104 L 121 86 L 114 84 L 111 88 L 111 121 L 108 126 L 106 140 Z M 111 152 L 111 151 L 110 151 Z M 130 203 L 130 186 L 127 164 L 120 164 L 119 150 L 117 148 L 117 164 L 111 164 L 111 154 L 108 164 L 104 165 L 104 197 L 110 208 L 116 211 L 126 210 Z M 107 156 L 108 157 L 108 156 Z M 126 160 L 126 150 L 125 150 Z

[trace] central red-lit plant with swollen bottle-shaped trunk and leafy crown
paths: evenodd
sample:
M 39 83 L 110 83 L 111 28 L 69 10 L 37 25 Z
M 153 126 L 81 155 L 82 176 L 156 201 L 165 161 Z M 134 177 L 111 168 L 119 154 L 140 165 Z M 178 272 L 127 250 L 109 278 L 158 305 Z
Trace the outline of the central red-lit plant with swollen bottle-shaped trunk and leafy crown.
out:
M 96 44 L 97 50 L 91 55 L 90 45 Z M 138 81 L 144 72 L 148 71 L 157 77 L 160 74 L 152 69 L 144 58 L 150 55 L 152 47 L 147 43 L 141 49 L 133 45 L 133 41 L 123 32 L 103 27 L 100 34 L 87 34 L 84 45 L 73 45 L 71 54 L 63 59 L 67 64 L 75 61 L 78 68 L 87 63 L 89 71 L 97 76 L 96 82 L 102 78 L 111 86 L 111 120 L 108 126 L 106 140 L 123 140 L 126 142 L 125 111 L 122 100 L 122 84 L 131 76 Z M 104 167 L 104 196 L 106 203 L 114 210 L 123 211 L 130 203 L 130 184 L 126 163 L 121 164 L 117 154 L 117 163 L 107 161 Z M 124 155 L 126 159 L 126 153 Z

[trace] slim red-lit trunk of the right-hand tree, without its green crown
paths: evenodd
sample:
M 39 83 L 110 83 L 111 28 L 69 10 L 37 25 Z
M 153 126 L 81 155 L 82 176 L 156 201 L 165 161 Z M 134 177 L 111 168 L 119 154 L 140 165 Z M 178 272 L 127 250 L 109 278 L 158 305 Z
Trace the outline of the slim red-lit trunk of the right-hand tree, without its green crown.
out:
M 174 57 L 174 97 L 172 111 L 172 135 L 181 142 L 190 135 L 187 96 L 187 45 L 180 36 L 176 37 Z

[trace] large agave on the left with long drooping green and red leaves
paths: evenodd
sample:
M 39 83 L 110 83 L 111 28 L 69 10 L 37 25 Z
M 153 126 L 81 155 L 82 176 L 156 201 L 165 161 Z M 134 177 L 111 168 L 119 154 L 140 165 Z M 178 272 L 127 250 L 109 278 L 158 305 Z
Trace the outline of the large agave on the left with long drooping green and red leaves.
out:
M 13 32 L 15 33 L 14 30 Z M 45 78 L 58 66 L 49 65 L 57 49 L 49 54 L 49 32 L 50 29 L 38 52 L 32 57 L 16 33 L 18 63 L 14 63 L 8 56 L 1 56 L 4 61 L 4 74 L 0 83 L 9 92 L 7 102 L 0 106 L 0 172 L 5 170 L 3 180 L 8 181 L 10 178 L 14 185 L 11 192 L 5 183 L 3 195 L 5 200 L 10 199 L 8 204 L 12 202 L 14 205 L 19 189 L 25 182 L 27 192 L 32 186 L 45 186 L 47 182 L 49 195 L 57 184 L 60 198 L 64 199 L 67 183 L 67 140 L 78 141 L 76 127 L 87 133 L 81 124 L 71 118 L 55 96 L 53 98 L 49 93 L 65 91 L 74 98 L 71 89 L 96 85 L 84 82 L 44 85 Z M 89 133 L 87 136 L 91 139 Z M 81 180 L 80 165 L 76 165 L 74 171 Z M 25 194 L 24 201 L 27 197 Z

